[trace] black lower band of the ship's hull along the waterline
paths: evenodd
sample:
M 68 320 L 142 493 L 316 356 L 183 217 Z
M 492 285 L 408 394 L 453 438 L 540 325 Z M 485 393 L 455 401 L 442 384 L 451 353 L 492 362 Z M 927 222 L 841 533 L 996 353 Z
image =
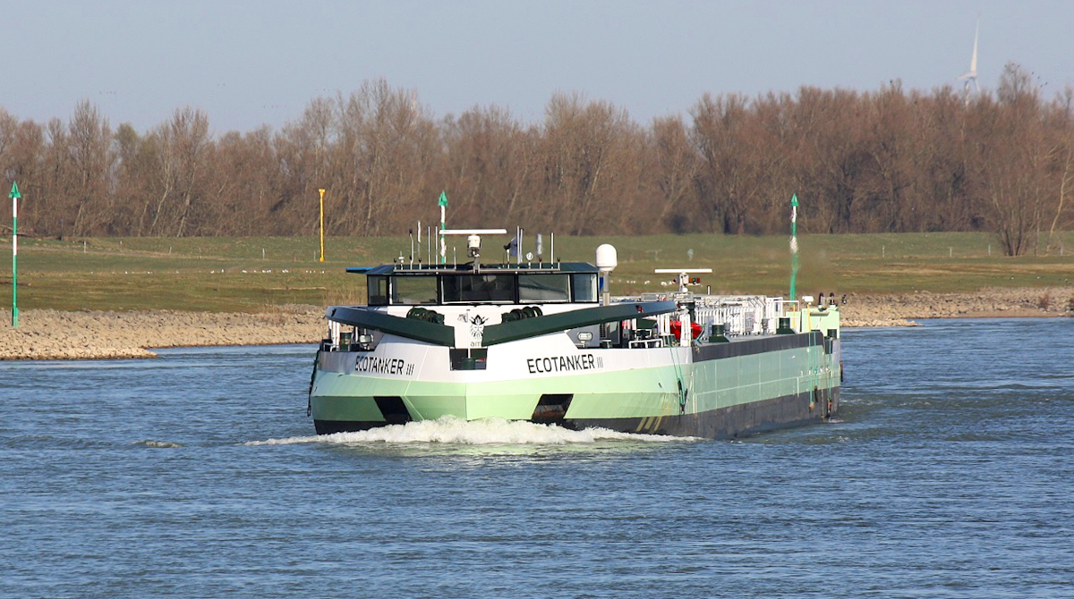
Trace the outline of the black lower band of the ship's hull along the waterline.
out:
M 839 410 L 839 388 L 817 390 L 813 393 L 785 395 L 751 404 L 719 408 L 696 414 L 676 414 L 649 418 L 566 419 L 542 423 L 558 424 L 565 428 L 610 428 L 622 433 L 647 433 L 677 437 L 706 439 L 737 439 L 806 424 L 824 422 Z M 397 424 L 386 421 L 331 421 L 315 420 L 318 435 L 368 430 L 378 426 Z

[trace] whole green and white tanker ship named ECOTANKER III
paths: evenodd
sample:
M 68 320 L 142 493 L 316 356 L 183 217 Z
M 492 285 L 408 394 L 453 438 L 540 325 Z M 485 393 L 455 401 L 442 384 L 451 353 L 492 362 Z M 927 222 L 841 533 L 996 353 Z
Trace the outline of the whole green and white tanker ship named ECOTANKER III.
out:
M 309 384 L 318 434 L 454 417 L 728 439 L 839 409 L 839 306 L 692 291 L 612 296 L 616 251 L 585 262 L 348 268 L 366 305 L 329 306 Z M 445 261 L 446 262 L 446 261 Z M 696 288 L 696 286 L 693 286 Z

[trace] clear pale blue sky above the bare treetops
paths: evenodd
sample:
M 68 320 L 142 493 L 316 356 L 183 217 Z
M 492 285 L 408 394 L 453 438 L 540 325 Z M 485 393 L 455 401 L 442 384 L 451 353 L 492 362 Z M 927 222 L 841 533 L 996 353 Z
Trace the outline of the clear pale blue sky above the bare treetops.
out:
M 709 91 L 979 83 L 1003 64 L 1074 85 L 1074 2 L 59 2 L 0 0 L 0 106 L 67 119 L 89 99 L 140 131 L 185 105 L 217 133 L 278 129 L 310 99 L 386 77 L 437 116 L 499 104 L 532 122 L 557 90 L 639 122 Z

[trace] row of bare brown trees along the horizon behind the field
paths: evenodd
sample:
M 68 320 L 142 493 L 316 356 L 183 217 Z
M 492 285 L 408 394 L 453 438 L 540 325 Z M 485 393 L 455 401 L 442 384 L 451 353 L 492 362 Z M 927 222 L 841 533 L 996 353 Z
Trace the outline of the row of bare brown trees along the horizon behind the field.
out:
M 317 98 L 279 130 L 214 134 L 194 107 L 139 132 L 89 101 L 64 122 L 0 107 L 0 173 L 24 195 L 20 232 L 332 235 L 452 227 L 566 234 L 991 231 L 1008 254 L 1071 227 L 1074 90 L 1045 100 L 1008 64 L 995 92 L 949 86 L 702 96 L 642 126 L 577 93 L 543 120 L 499 106 L 436 118 L 369 81 Z M 423 218 L 424 217 L 424 218 Z

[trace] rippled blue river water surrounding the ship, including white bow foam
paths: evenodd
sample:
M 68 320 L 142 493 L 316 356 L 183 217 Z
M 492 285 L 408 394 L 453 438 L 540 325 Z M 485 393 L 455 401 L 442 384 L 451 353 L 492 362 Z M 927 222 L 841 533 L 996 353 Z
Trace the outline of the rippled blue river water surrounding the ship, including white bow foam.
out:
M 1074 597 L 1074 319 L 845 331 L 736 442 L 319 439 L 311 352 L 0 363 L 0 596 Z

